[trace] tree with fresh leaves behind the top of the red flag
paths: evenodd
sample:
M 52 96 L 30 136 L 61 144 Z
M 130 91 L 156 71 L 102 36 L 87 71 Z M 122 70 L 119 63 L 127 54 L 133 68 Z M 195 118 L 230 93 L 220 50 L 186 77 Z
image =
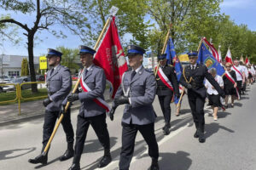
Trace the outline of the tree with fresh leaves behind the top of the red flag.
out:
M 93 46 L 108 20 L 109 9 L 112 6 L 119 8 L 116 14 L 116 24 L 119 28 L 119 36 L 124 40 L 124 35 L 130 34 L 132 43 L 137 43 L 143 48 L 150 46 L 148 31 L 150 20 L 145 21 L 147 12 L 143 10 L 147 0 L 81 0 L 82 8 L 87 13 L 88 24 L 82 28 L 81 39 L 87 45 Z M 123 41 L 125 42 L 125 41 Z

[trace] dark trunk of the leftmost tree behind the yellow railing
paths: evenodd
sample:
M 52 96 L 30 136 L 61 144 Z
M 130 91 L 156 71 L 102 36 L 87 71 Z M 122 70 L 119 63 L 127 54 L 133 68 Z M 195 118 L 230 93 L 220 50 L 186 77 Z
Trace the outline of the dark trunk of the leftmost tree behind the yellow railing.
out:
M 31 82 L 36 82 L 33 48 L 34 48 L 34 34 L 29 33 L 28 37 L 27 37 L 29 71 L 30 71 L 30 76 L 31 76 Z M 32 93 L 38 93 L 38 86 L 35 83 L 32 84 Z

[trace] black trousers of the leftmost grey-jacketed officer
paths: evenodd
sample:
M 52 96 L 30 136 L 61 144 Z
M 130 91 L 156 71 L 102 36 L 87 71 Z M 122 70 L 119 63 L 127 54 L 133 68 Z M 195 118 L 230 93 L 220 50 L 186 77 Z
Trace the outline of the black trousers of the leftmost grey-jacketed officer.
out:
M 44 147 L 48 143 L 49 137 L 54 130 L 55 122 L 59 116 L 60 111 L 45 111 L 44 115 L 44 132 L 43 132 L 43 145 Z M 70 120 L 70 109 L 65 113 L 64 118 L 61 121 L 61 125 L 66 133 L 67 143 L 73 143 L 73 127 Z

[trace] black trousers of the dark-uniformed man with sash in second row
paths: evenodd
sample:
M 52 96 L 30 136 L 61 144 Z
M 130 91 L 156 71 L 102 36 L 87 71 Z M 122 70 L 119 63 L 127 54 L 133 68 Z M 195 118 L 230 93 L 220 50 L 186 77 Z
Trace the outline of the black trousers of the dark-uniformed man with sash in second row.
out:
M 171 121 L 171 106 L 170 105 L 171 105 L 171 101 L 172 101 L 172 95 L 165 95 L 165 96 L 159 95 L 158 96 L 161 110 L 165 117 L 166 123 L 170 123 L 170 121 Z

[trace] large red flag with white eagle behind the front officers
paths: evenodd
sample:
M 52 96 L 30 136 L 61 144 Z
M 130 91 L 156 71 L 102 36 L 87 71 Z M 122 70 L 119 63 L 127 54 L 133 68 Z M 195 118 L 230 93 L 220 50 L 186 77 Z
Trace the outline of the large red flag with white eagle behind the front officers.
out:
M 115 17 L 113 16 L 102 38 L 102 42 L 98 48 L 96 48 L 96 54 L 94 56 L 94 64 L 102 67 L 105 71 L 107 81 L 111 86 L 112 98 L 119 88 L 122 75 L 128 69 L 114 20 Z

